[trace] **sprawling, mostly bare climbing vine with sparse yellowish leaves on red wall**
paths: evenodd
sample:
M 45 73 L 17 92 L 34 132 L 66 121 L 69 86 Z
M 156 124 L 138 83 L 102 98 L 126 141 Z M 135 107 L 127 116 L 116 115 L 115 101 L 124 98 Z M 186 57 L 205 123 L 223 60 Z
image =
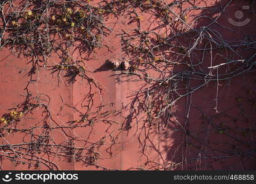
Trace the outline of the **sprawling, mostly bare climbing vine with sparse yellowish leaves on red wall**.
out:
M 227 109 L 222 101 L 226 86 L 245 75 L 254 77 L 251 73 L 255 72 L 255 35 L 231 41 L 222 36 L 223 31 L 238 34 L 236 28 L 218 21 L 232 3 L 235 2 L 209 6 L 191 0 L 1 1 L 0 49 L 9 48 L 18 58 L 30 60 L 25 101 L 0 118 L 1 161 L 61 169 L 50 159 L 56 156 L 82 163 L 85 169 L 117 169 L 99 164 L 100 160 L 113 158 L 113 147 L 122 144 L 122 132 L 131 130 L 146 161 L 130 169 L 200 169 L 231 158 L 241 164 L 246 159 L 253 161 L 253 89 L 241 92 L 248 99 L 234 97 Z M 250 6 L 255 6 L 254 1 Z M 254 14 L 253 8 L 246 11 Z M 119 34 L 122 54 L 129 65 L 119 75 L 125 82 L 142 85 L 131 94 L 129 104 L 107 110 L 113 104 L 105 102 L 104 86 L 94 79 L 94 71 L 86 62 L 100 49 L 112 52 L 105 44 L 114 31 L 108 21 L 122 15 L 127 15 L 130 25 L 129 29 L 121 28 Z M 54 56 L 58 59 L 53 60 Z M 43 69 L 56 80 L 64 74 L 66 85 L 72 86 L 79 79 L 88 82 L 89 93 L 84 95 L 81 108 L 64 103 L 61 98 L 60 109 L 73 111 L 78 119 L 60 124 L 50 107 L 51 97 L 31 93 L 30 88 L 38 85 L 38 74 Z M 209 107 L 194 100 L 207 96 L 207 91 L 202 94 L 204 90 L 214 94 Z M 100 104 L 94 104 L 95 98 L 100 99 Z M 36 109 L 40 109 L 42 120 L 20 128 L 19 124 Z M 234 115 L 231 110 L 238 113 Z M 127 112 L 129 115 L 124 116 Z M 114 120 L 116 116 L 123 120 Z M 91 139 L 91 132 L 100 127 L 106 129 L 98 133 L 98 140 Z M 81 137 L 73 133 L 76 129 L 89 134 Z M 62 132 L 66 140 L 55 142 L 56 131 Z M 5 138 L 9 134 L 22 135 L 23 142 L 10 144 Z M 170 145 L 174 135 L 179 143 Z M 156 137 L 158 141 L 154 140 Z M 78 142 L 82 142 L 81 147 L 76 145 Z M 149 148 L 154 150 L 154 159 L 148 155 Z M 103 156 L 105 153 L 108 156 Z M 225 167 L 236 168 L 232 164 Z

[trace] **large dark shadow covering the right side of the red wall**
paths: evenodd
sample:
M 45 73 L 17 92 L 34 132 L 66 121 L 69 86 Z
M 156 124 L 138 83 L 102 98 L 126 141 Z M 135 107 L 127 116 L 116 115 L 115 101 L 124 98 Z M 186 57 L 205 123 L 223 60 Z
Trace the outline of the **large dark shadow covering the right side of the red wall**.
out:
M 176 68 L 185 76 L 180 94 L 188 95 L 176 103 L 175 118 L 164 121 L 161 142 L 175 169 L 254 170 L 255 1 L 207 9 L 180 35 L 182 58 L 193 67 Z

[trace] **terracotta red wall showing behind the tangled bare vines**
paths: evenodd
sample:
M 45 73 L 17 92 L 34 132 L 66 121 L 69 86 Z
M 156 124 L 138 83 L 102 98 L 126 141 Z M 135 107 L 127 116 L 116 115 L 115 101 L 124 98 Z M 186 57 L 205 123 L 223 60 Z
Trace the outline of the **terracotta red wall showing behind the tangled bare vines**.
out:
M 228 23 L 228 18 L 234 18 L 234 12 L 239 10 L 244 2 L 231 3 L 218 18 L 219 24 L 234 30 L 232 32 L 220 26 L 216 28 L 221 33 L 222 39 L 227 42 L 228 40 L 230 42 L 244 40 L 246 43 L 246 39 L 249 38 L 255 40 L 255 17 L 252 16 L 252 13 L 244 13 L 244 18 L 249 17 L 251 19 L 250 23 L 245 26 L 238 27 Z M 228 1 L 198 2 L 198 4 L 207 5 L 212 9 L 225 7 L 227 3 Z M 199 13 L 216 18 L 217 10 L 216 13 L 212 14 L 204 10 L 191 12 L 188 15 L 188 20 L 190 20 L 190 17 L 192 20 L 193 15 Z M 142 29 L 151 29 L 158 26 L 150 15 L 142 13 L 142 17 L 143 19 L 140 22 Z M 97 49 L 96 53 L 93 53 L 87 61 L 84 61 L 88 78 L 76 77 L 74 83 L 67 82 L 65 71 L 61 71 L 58 77 L 57 72 L 51 73 L 52 70 L 49 67 L 36 69 L 31 79 L 31 76 L 28 75 L 31 70 L 31 63 L 29 63 L 31 58 L 24 58 L 23 56 L 17 58 L 18 53 L 11 53 L 11 50 L 7 47 L 2 48 L 0 51 L 0 115 L 10 112 L 10 108 L 15 108 L 25 101 L 26 96 L 24 95 L 27 94 L 25 88 L 28 82 L 31 81 L 27 90 L 33 94 L 33 97 L 39 99 L 39 103 L 47 104 L 52 120 L 48 118 L 43 121 L 47 112 L 42 107 L 36 107 L 31 113 L 22 117 L 17 124 L 5 126 L 5 128 L 14 129 L 14 131 L 10 132 L 8 129 L 2 129 L 1 134 L 4 134 L 4 136 L 0 138 L 1 144 L 15 145 L 32 142 L 33 140 L 37 140 L 40 144 L 39 137 L 48 136 L 50 144 L 68 146 L 69 143 L 72 143 L 76 148 L 86 147 L 91 149 L 94 147 L 92 148 L 94 150 L 93 154 L 90 154 L 89 150 L 81 153 L 82 161 L 69 160 L 66 156 L 54 154 L 71 151 L 69 150 L 70 147 L 52 147 L 52 153 L 22 150 L 24 153 L 21 158 L 15 158 L 19 161 L 31 163 L 36 163 L 36 159 L 39 159 L 41 163 L 38 167 L 33 164 L 29 166 L 28 163 L 22 164 L 10 161 L 9 158 L 15 156 L 15 151 L 12 151 L 12 149 L 1 150 L 2 170 L 49 169 L 42 163 L 52 166 L 52 169 L 63 170 L 104 168 L 255 169 L 255 74 L 252 72 L 239 75 L 239 77 L 231 80 L 220 81 L 218 86 L 217 83 L 210 82 L 196 93 L 193 93 L 193 98 L 191 96 L 183 98 L 175 104 L 175 117 L 178 121 L 172 117 L 162 117 L 159 121 L 153 119 L 153 126 L 148 127 L 147 124 L 142 123 L 146 120 L 146 112 L 141 109 L 146 105 L 156 105 L 155 107 L 157 107 L 157 105 L 161 105 L 161 101 L 153 96 L 152 104 L 146 104 L 148 102 L 143 104 L 145 101 L 143 101 L 142 96 L 146 94 L 141 93 L 140 96 L 136 96 L 134 92 L 138 91 L 145 84 L 145 81 L 138 80 L 140 78 L 134 75 L 121 75 L 123 71 L 112 71 L 105 64 L 106 59 L 110 58 L 125 58 L 132 63 L 134 56 L 129 57 L 121 45 L 123 31 L 131 33 L 132 28 L 137 28 L 137 21 L 134 23 L 130 23 L 130 21 L 130 15 L 127 13 L 120 13 L 118 17 L 109 15 L 106 19 L 106 25 L 112 28 L 113 32 L 103 40 L 103 45 L 107 45 L 108 48 L 103 46 Z M 208 18 L 199 18 L 194 26 L 199 28 L 200 26 L 206 26 L 207 23 L 209 23 Z M 215 29 L 215 27 L 212 26 L 212 29 Z M 164 33 L 164 28 L 159 30 Z M 184 42 L 184 45 L 190 45 L 191 40 L 193 40 L 193 33 L 187 32 L 188 34 L 180 39 L 180 42 Z M 204 48 L 206 44 L 207 42 L 202 40 L 198 48 Z M 234 49 L 239 50 L 240 48 Z M 249 58 L 253 56 L 254 49 L 250 48 L 250 50 L 239 51 L 239 53 L 243 57 Z M 69 52 L 74 58 L 79 57 L 80 53 L 75 47 L 71 47 Z M 201 67 L 207 68 L 211 57 L 214 61 L 213 66 L 225 61 L 218 53 L 220 52 L 202 53 L 198 51 L 193 54 L 199 56 L 199 58 L 204 54 L 206 64 Z M 223 50 L 223 53 L 225 53 L 225 50 Z M 223 55 L 228 56 L 233 55 L 233 53 L 229 50 Z M 239 57 L 234 56 L 232 59 L 236 58 Z M 253 56 L 252 59 L 255 59 L 255 57 Z M 58 56 L 53 55 L 49 58 L 49 66 L 59 61 Z M 225 70 L 228 70 L 228 68 L 220 68 L 220 71 Z M 149 70 L 148 74 L 154 77 L 158 76 L 159 72 Z M 198 81 L 191 80 L 190 82 L 191 85 L 196 85 Z M 145 88 L 148 88 L 148 86 L 150 84 L 147 84 Z M 32 101 L 36 103 L 38 99 L 35 98 Z M 218 99 L 218 101 L 215 99 Z M 188 111 L 186 100 L 191 102 L 188 118 L 186 118 Z M 91 105 L 90 112 L 88 112 L 88 105 Z M 103 106 L 99 110 L 100 105 Z M 216 105 L 217 109 L 215 109 Z M 81 119 L 79 117 L 80 112 L 89 114 L 89 119 L 92 120 L 90 123 L 93 123 L 92 126 L 86 126 L 89 121 L 77 121 Z M 42 127 L 39 128 L 45 126 L 45 122 L 49 127 L 76 125 L 76 128 L 55 128 L 50 131 Z M 216 126 L 218 127 L 216 128 Z M 38 128 L 31 130 L 31 134 L 22 131 L 15 132 L 15 128 L 27 129 L 31 127 Z M 183 128 L 186 129 L 185 132 Z M 147 132 L 150 133 L 147 134 Z M 75 139 L 73 139 L 74 137 Z M 145 142 L 143 142 L 144 140 Z M 91 144 L 92 142 L 97 142 L 97 144 Z M 46 149 L 49 148 L 46 147 Z M 19 148 L 15 147 L 14 150 L 19 151 Z M 10 153 L 8 153 L 9 151 Z M 79 149 L 74 153 L 79 154 Z M 97 166 L 95 164 L 88 165 L 91 159 L 94 159 L 93 156 L 96 153 L 99 153 L 99 158 L 96 161 Z M 31 155 L 36 155 L 36 157 Z M 23 157 L 33 158 L 33 160 L 28 161 Z M 88 160 L 85 161 L 86 159 Z M 49 160 L 50 163 L 48 163 Z M 149 161 L 148 165 L 145 164 L 147 161 Z M 177 164 L 177 167 L 175 164 Z

